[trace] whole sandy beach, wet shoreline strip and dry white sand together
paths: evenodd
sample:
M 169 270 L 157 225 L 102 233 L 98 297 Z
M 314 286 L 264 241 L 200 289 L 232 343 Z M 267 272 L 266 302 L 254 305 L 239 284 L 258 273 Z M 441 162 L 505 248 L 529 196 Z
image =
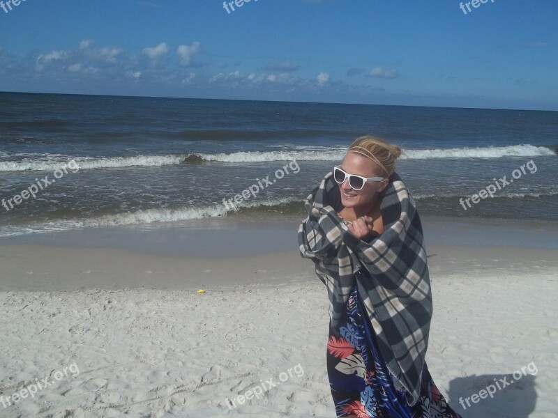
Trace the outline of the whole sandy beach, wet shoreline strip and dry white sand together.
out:
M 27 394 L 0 399 L 1 416 L 334 417 L 329 302 L 296 248 L 297 224 L 211 222 L 205 233 L 0 242 L 0 395 Z M 463 417 L 556 417 L 557 249 L 451 245 L 443 223 L 424 224 L 435 303 L 426 360 L 442 394 Z M 203 256 L 200 236 L 209 245 L 215 231 L 236 249 Z M 481 231 L 490 235 L 469 228 Z M 514 231 L 537 235 L 528 223 Z M 175 235 L 189 237 L 178 252 Z M 513 383 L 478 396 L 500 379 Z

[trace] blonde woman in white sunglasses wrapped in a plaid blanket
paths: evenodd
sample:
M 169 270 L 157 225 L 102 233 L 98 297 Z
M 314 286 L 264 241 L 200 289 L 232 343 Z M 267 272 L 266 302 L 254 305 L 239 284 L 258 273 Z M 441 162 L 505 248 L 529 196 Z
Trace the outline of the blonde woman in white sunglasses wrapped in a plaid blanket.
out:
M 306 200 L 301 255 L 330 300 L 327 368 L 338 417 L 459 418 L 425 364 L 432 293 L 401 149 L 356 139 Z

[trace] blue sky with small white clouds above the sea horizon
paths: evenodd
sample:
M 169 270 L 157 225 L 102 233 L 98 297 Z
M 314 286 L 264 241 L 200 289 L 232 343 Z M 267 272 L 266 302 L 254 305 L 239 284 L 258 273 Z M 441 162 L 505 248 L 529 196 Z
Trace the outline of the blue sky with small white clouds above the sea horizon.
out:
M 485 1 L 26 0 L 0 91 L 558 110 L 558 1 Z

